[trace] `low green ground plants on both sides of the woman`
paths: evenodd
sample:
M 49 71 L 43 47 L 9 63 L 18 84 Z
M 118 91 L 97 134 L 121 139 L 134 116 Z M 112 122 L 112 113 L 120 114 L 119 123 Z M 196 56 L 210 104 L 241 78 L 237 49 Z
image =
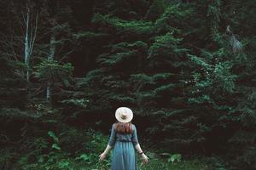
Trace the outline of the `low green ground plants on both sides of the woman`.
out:
M 69 132 L 70 131 L 70 132 Z M 24 153 L 17 153 L 12 150 L 14 158 L 9 158 L 10 150 L 0 150 L 3 154 L 1 162 L 15 161 L 15 169 L 20 170 L 109 170 L 111 164 L 111 154 L 108 155 L 106 160 L 98 161 L 98 155 L 102 153 L 108 144 L 108 135 L 103 135 L 94 130 L 89 130 L 85 134 L 76 130 L 67 130 L 67 136 L 57 137 L 51 134 L 47 137 L 41 138 L 39 142 L 34 140 L 30 141 L 39 149 L 34 152 L 34 149 L 27 149 Z M 55 143 L 47 143 L 47 139 L 52 137 L 60 138 L 60 148 L 52 147 Z M 84 138 L 84 139 L 83 139 Z M 38 139 L 36 140 L 38 141 Z M 65 143 L 64 143 L 65 141 Z M 46 143 L 45 143 L 46 142 Z M 53 141 L 54 142 L 54 141 Z M 73 143 L 72 143 L 73 142 Z M 83 142 L 83 143 L 81 143 Z M 71 145 L 72 144 L 72 145 Z M 82 148 L 78 144 L 82 144 Z M 79 146 L 79 150 L 75 147 Z M 20 146 L 25 147 L 25 146 Z M 47 152 L 44 150 L 48 150 Z M 143 146 L 147 150 L 146 146 Z M 190 159 L 185 160 L 182 156 L 174 156 L 173 160 L 170 154 L 163 157 L 157 154 L 159 150 L 147 151 L 148 164 L 143 164 L 140 156 L 137 155 L 137 170 L 214 170 L 213 161 L 206 161 L 207 159 Z M 73 153 L 73 154 L 71 154 Z M 178 155 L 178 154 L 177 154 Z M 173 162 L 172 162 L 173 161 Z M 1 163 L 0 162 L 0 163 Z

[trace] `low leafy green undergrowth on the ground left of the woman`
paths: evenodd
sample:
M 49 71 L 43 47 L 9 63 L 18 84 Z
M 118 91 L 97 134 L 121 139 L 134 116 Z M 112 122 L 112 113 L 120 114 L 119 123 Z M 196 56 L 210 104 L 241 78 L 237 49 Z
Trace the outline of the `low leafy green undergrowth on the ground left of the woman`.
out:
M 63 129 L 64 130 L 64 129 Z M 70 135 L 72 134 L 73 135 Z M 105 149 L 108 143 L 108 137 L 93 130 L 87 130 L 86 133 L 72 128 L 65 127 L 58 137 L 52 131 L 48 135 L 53 139 L 52 149 L 46 136 L 25 139 L 20 147 L 21 152 L 17 150 L 1 150 L 11 155 L 5 155 L 0 160 L 1 163 L 14 161 L 13 167 L 19 169 L 87 169 L 108 168 L 110 166 L 109 157 L 106 161 L 98 161 L 98 153 Z M 67 136 L 68 135 L 68 136 Z M 74 137 L 74 138 L 73 138 Z M 81 138 L 82 137 L 82 138 Z M 67 139 L 70 138 L 70 139 Z M 82 144 L 80 144 L 82 142 Z M 59 147 L 61 144 L 63 147 Z M 68 145 L 72 146 L 68 146 Z M 73 145 L 79 146 L 77 149 Z M 71 155 L 73 150 L 73 155 Z M 11 168 L 11 167 L 9 167 Z

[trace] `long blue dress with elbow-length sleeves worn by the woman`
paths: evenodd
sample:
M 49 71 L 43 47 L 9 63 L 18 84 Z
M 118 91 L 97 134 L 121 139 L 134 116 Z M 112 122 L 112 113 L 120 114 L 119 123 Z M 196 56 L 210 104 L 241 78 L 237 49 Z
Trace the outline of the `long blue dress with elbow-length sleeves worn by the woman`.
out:
M 137 161 L 134 147 L 138 144 L 137 129 L 132 124 L 132 133 L 121 134 L 111 129 L 108 144 L 113 147 L 111 170 L 137 170 Z

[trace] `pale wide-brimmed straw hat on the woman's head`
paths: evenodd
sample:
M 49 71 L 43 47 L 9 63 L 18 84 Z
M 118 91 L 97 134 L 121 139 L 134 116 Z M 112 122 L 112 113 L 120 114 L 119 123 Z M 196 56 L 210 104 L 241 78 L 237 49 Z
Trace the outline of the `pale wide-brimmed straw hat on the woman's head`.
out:
M 119 122 L 131 122 L 131 119 L 133 118 L 133 113 L 128 107 L 119 107 L 115 111 L 115 118 Z

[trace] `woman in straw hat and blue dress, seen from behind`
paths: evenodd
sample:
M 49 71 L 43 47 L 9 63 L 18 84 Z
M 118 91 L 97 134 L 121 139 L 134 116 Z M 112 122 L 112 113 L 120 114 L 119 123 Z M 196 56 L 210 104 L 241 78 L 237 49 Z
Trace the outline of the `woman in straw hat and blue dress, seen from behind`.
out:
M 143 162 L 148 163 L 148 156 L 143 153 L 137 139 L 137 129 L 131 124 L 133 113 L 127 107 L 119 107 L 115 111 L 116 123 L 113 123 L 110 139 L 106 150 L 99 156 L 105 159 L 113 148 L 111 170 L 136 170 L 137 161 L 134 148 L 142 156 Z

